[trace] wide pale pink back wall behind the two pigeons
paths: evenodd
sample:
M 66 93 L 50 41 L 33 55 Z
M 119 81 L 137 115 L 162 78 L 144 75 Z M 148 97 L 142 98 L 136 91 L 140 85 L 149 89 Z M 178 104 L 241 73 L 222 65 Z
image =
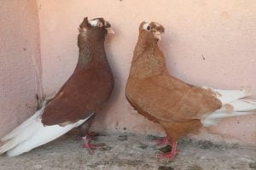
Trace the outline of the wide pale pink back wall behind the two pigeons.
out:
M 116 34 L 108 37 L 108 59 L 115 74 L 115 90 L 94 128 L 107 131 L 162 133 L 133 111 L 125 99 L 138 26 L 143 20 L 166 27 L 160 42 L 172 75 L 213 88 L 253 87 L 256 97 L 256 25 L 253 0 L 38 0 L 44 92 L 52 95 L 73 72 L 78 59 L 78 26 L 84 16 L 103 16 Z M 256 142 L 255 116 L 238 117 L 207 129 L 222 139 Z M 217 139 L 201 133 L 202 138 Z M 220 139 L 220 138 L 218 138 Z

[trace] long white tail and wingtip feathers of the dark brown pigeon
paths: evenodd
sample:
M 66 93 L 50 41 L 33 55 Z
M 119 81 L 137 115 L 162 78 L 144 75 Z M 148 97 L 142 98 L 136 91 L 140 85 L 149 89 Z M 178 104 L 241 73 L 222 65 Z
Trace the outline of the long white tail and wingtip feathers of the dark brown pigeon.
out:
M 32 150 L 42 144 L 46 144 L 57 139 L 62 134 L 67 133 L 73 127 L 78 127 L 84 123 L 93 113 L 79 122 L 67 124 L 66 126 L 52 125 L 44 126 L 41 122 L 41 115 L 44 107 L 33 116 L 16 127 L 12 132 L 1 139 L 5 144 L 0 147 L 0 155 L 7 151 L 8 156 L 19 156 L 20 154 Z

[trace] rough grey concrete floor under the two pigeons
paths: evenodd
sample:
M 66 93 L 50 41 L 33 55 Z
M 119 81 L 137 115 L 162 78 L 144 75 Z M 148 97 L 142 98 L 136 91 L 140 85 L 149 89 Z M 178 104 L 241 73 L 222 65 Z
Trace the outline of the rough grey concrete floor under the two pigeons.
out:
M 182 139 L 177 157 L 167 161 L 156 157 L 161 147 L 154 146 L 154 138 L 130 133 L 99 136 L 96 142 L 104 142 L 108 147 L 90 155 L 82 148 L 83 141 L 67 135 L 22 156 L 0 156 L 0 169 L 256 169 L 256 148 L 252 146 Z

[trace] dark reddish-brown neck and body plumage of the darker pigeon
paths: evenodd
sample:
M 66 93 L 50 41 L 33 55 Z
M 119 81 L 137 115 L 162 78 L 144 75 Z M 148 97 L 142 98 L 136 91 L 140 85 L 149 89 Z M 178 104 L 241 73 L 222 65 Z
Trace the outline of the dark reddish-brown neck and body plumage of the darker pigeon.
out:
M 46 105 L 42 115 L 44 125 L 77 122 L 91 113 L 98 113 L 113 90 L 113 74 L 104 49 L 107 31 L 89 28 L 86 22 L 84 18 L 80 25 L 77 67 Z

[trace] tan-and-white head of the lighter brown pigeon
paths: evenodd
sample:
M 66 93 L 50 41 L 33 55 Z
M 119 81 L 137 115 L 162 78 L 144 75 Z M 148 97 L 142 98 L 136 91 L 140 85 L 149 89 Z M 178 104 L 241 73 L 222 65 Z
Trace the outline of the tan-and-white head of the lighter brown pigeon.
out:
M 143 38 L 147 38 L 149 41 L 158 41 L 161 39 L 160 34 L 165 32 L 165 28 L 154 21 L 150 23 L 143 21 L 139 27 L 139 31 Z

